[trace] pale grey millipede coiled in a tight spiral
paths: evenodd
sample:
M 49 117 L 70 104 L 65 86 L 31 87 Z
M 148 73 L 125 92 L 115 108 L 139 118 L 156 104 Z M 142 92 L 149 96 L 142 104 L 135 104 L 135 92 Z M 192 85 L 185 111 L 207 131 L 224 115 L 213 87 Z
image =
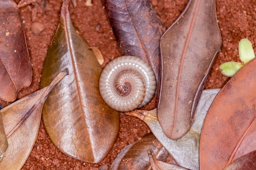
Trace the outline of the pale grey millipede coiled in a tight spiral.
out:
M 131 55 L 109 62 L 99 79 L 101 97 L 108 106 L 121 112 L 145 106 L 154 96 L 155 88 L 150 65 Z

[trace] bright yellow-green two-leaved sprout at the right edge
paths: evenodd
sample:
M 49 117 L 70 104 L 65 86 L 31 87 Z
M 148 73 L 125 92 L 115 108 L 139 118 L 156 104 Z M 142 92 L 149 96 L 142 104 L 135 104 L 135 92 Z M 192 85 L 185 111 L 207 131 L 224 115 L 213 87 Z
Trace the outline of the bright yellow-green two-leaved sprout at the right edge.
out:
M 223 75 L 232 77 L 247 62 L 255 58 L 252 42 L 247 38 L 240 40 L 238 44 L 238 53 L 242 62 L 225 62 L 220 64 L 219 68 Z

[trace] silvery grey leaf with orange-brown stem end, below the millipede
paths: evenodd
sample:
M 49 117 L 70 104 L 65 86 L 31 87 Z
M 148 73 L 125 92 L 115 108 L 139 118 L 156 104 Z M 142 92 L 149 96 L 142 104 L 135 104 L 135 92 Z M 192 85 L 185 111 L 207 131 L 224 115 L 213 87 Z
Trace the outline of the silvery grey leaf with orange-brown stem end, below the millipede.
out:
M 211 106 L 211 102 L 218 94 L 220 89 L 209 89 L 202 92 L 198 108 L 195 113 L 195 121 L 190 130 L 180 139 L 172 140 L 168 138 L 158 120 L 156 109 L 150 111 L 134 110 L 127 112 L 127 115 L 132 115 L 143 120 L 150 128 L 159 142 L 166 148 L 169 154 L 175 159 L 178 165 L 192 170 L 199 169 L 199 140 L 201 128 L 204 122 L 205 115 Z

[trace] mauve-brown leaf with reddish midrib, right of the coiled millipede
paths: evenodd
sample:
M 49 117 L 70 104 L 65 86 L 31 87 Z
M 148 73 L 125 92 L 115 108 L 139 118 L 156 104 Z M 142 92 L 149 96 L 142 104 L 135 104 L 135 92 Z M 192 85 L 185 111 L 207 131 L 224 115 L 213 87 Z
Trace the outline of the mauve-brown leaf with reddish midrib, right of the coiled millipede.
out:
M 160 40 L 162 66 L 157 117 L 171 139 L 182 137 L 221 45 L 215 0 L 190 0 Z

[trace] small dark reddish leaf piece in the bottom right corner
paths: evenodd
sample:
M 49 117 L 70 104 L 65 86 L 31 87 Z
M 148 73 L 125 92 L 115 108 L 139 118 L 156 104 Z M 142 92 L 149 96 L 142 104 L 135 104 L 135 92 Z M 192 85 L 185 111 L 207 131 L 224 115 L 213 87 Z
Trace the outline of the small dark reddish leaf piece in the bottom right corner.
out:
M 256 170 L 256 150 L 232 161 L 223 170 Z

